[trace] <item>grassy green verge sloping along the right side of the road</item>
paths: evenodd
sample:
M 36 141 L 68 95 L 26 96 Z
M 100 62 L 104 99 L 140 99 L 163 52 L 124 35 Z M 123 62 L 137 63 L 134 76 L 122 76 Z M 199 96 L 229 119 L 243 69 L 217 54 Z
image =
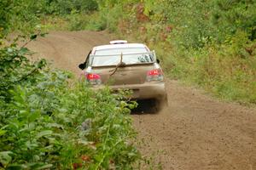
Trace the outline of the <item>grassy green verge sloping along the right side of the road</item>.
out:
M 256 103 L 255 42 L 238 31 L 229 42 L 195 50 L 179 48 L 165 58 L 169 74 L 198 84 L 222 99 Z M 188 76 L 189 75 L 189 76 Z

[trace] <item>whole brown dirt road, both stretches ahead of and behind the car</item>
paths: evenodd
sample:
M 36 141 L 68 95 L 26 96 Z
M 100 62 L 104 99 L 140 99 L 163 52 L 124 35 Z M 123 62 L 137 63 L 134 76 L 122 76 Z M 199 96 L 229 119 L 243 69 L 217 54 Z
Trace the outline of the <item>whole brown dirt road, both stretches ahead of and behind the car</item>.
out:
M 105 32 L 52 31 L 28 48 L 78 75 L 90 48 L 111 39 Z M 256 170 L 255 108 L 220 102 L 172 80 L 166 87 L 164 111 L 132 115 L 143 154 L 153 154 L 167 170 Z

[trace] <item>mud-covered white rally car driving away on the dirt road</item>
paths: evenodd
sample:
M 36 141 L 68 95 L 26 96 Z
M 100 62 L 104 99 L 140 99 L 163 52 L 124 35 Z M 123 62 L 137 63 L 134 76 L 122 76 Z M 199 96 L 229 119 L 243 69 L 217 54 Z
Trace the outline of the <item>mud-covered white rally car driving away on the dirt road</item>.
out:
M 133 99 L 166 99 L 163 71 L 143 44 L 96 47 L 85 72 L 94 88 L 109 84 L 113 90 L 131 89 Z

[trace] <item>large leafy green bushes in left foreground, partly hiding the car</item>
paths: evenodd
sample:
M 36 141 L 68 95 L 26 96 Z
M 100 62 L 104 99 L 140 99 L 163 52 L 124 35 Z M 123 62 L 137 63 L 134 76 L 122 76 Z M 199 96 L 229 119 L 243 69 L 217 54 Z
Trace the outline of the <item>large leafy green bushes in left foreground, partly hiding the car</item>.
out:
M 15 43 L 0 52 L 0 168 L 132 168 L 139 154 L 129 116 L 136 104 L 122 100 L 129 93 L 70 83 L 70 73 L 30 62 Z

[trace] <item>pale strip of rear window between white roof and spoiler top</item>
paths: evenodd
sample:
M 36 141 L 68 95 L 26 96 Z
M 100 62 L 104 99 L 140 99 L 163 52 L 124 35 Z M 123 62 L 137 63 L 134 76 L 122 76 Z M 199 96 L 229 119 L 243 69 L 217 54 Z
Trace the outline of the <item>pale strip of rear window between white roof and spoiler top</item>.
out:
M 146 48 L 107 48 L 96 50 L 96 55 L 147 53 Z

